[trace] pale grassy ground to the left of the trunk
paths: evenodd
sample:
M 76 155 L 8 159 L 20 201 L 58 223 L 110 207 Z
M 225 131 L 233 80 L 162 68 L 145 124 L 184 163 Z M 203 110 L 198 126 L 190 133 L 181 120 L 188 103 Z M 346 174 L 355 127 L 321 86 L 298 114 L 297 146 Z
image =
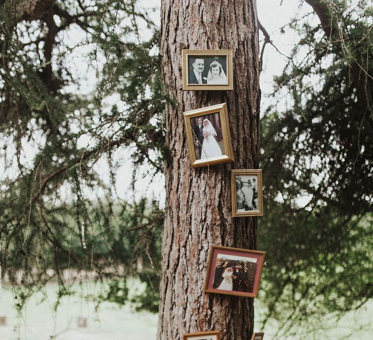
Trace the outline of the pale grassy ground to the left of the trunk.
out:
M 22 318 L 17 317 L 13 297 L 4 287 L 0 301 L 0 316 L 7 317 L 7 325 L 0 326 L 0 340 L 153 340 L 157 316 L 152 313 L 135 313 L 129 306 L 102 303 L 97 311 L 93 302 L 70 296 L 62 299 L 57 312 L 56 284 L 49 284 L 45 293 L 48 299 L 40 303 L 42 293 L 30 298 Z M 78 317 L 87 318 L 87 327 L 78 327 Z

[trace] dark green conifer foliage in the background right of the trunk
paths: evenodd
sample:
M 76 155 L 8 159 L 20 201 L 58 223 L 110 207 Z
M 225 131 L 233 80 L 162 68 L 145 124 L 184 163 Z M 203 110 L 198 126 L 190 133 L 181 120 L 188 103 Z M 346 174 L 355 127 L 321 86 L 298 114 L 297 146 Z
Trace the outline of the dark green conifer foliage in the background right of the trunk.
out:
M 299 40 L 262 120 L 261 292 L 275 339 L 294 325 L 315 332 L 373 294 L 372 6 L 305 2 L 283 28 Z

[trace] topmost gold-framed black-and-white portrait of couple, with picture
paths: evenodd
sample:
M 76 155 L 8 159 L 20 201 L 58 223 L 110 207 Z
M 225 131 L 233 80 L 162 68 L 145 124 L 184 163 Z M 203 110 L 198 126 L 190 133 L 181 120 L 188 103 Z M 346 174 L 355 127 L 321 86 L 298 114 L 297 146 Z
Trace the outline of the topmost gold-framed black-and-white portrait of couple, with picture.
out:
M 182 50 L 183 90 L 233 90 L 232 50 Z

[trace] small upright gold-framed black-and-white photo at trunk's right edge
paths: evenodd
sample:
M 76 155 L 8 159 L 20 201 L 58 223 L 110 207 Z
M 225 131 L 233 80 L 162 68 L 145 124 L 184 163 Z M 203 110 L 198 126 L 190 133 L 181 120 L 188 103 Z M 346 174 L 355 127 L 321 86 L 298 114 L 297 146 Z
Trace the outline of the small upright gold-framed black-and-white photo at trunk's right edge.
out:
M 231 170 L 232 216 L 263 216 L 262 170 Z

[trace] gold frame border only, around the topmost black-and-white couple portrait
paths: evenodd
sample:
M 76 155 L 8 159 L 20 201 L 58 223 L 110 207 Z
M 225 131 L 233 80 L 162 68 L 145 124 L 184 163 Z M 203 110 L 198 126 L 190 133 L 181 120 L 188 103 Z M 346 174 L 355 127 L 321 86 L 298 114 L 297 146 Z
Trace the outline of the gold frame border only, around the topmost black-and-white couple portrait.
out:
M 183 66 L 183 91 L 216 91 L 233 90 L 233 54 L 232 50 L 181 50 Z M 227 85 L 188 84 L 188 57 L 189 56 L 223 56 L 227 57 Z

